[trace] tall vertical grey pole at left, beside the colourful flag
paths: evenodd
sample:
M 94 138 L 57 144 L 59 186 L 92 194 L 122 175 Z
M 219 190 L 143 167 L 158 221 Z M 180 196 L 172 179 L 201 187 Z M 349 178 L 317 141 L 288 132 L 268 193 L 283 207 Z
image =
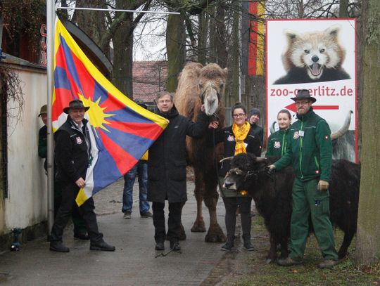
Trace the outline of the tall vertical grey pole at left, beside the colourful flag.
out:
M 54 56 L 54 22 L 56 8 L 54 1 L 46 1 L 46 27 L 47 27 L 47 219 L 48 219 L 48 235 L 51 232 L 51 227 L 54 221 L 54 165 L 53 165 L 53 126 L 51 122 L 51 103 L 53 95 L 53 56 Z

